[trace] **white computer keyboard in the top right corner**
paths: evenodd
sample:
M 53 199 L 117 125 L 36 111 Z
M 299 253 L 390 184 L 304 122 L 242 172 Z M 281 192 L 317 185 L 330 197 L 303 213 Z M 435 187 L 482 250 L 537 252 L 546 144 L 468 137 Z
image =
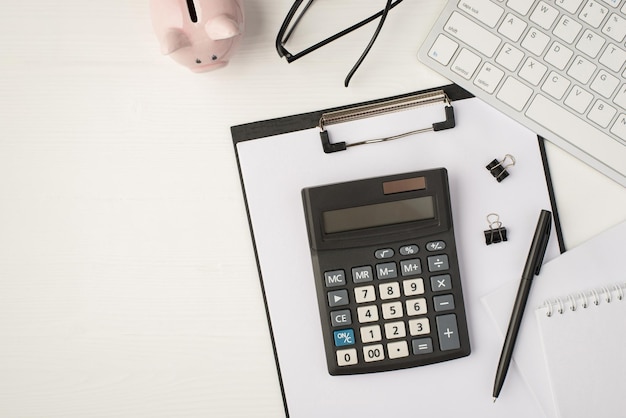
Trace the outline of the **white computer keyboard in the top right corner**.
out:
M 626 187 L 626 0 L 449 0 L 419 58 Z

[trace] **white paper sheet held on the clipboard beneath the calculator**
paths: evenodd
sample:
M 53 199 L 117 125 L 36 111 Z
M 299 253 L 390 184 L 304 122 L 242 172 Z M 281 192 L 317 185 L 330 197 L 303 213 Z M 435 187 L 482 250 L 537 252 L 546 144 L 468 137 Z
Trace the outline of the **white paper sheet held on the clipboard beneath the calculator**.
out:
M 301 417 L 540 417 L 528 388 L 509 374 L 506 395 L 491 391 L 501 350 L 480 296 L 521 273 L 539 212 L 550 209 L 536 136 L 478 99 L 453 103 L 457 126 L 383 144 L 324 154 L 317 129 L 237 144 L 257 257 L 289 414 Z M 375 138 L 443 118 L 429 106 L 331 126 L 333 142 Z M 498 183 L 485 166 L 512 154 L 517 164 Z M 303 187 L 446 167 L 472 353 L 400 371 L 330 376 L 326 369 L 311 268 Z M 485 245 L 495 212 L 509 241 Z M 554 229 L 553 229 L 554 231 Z M 558 255 L 550 241 L 546 259 Z

